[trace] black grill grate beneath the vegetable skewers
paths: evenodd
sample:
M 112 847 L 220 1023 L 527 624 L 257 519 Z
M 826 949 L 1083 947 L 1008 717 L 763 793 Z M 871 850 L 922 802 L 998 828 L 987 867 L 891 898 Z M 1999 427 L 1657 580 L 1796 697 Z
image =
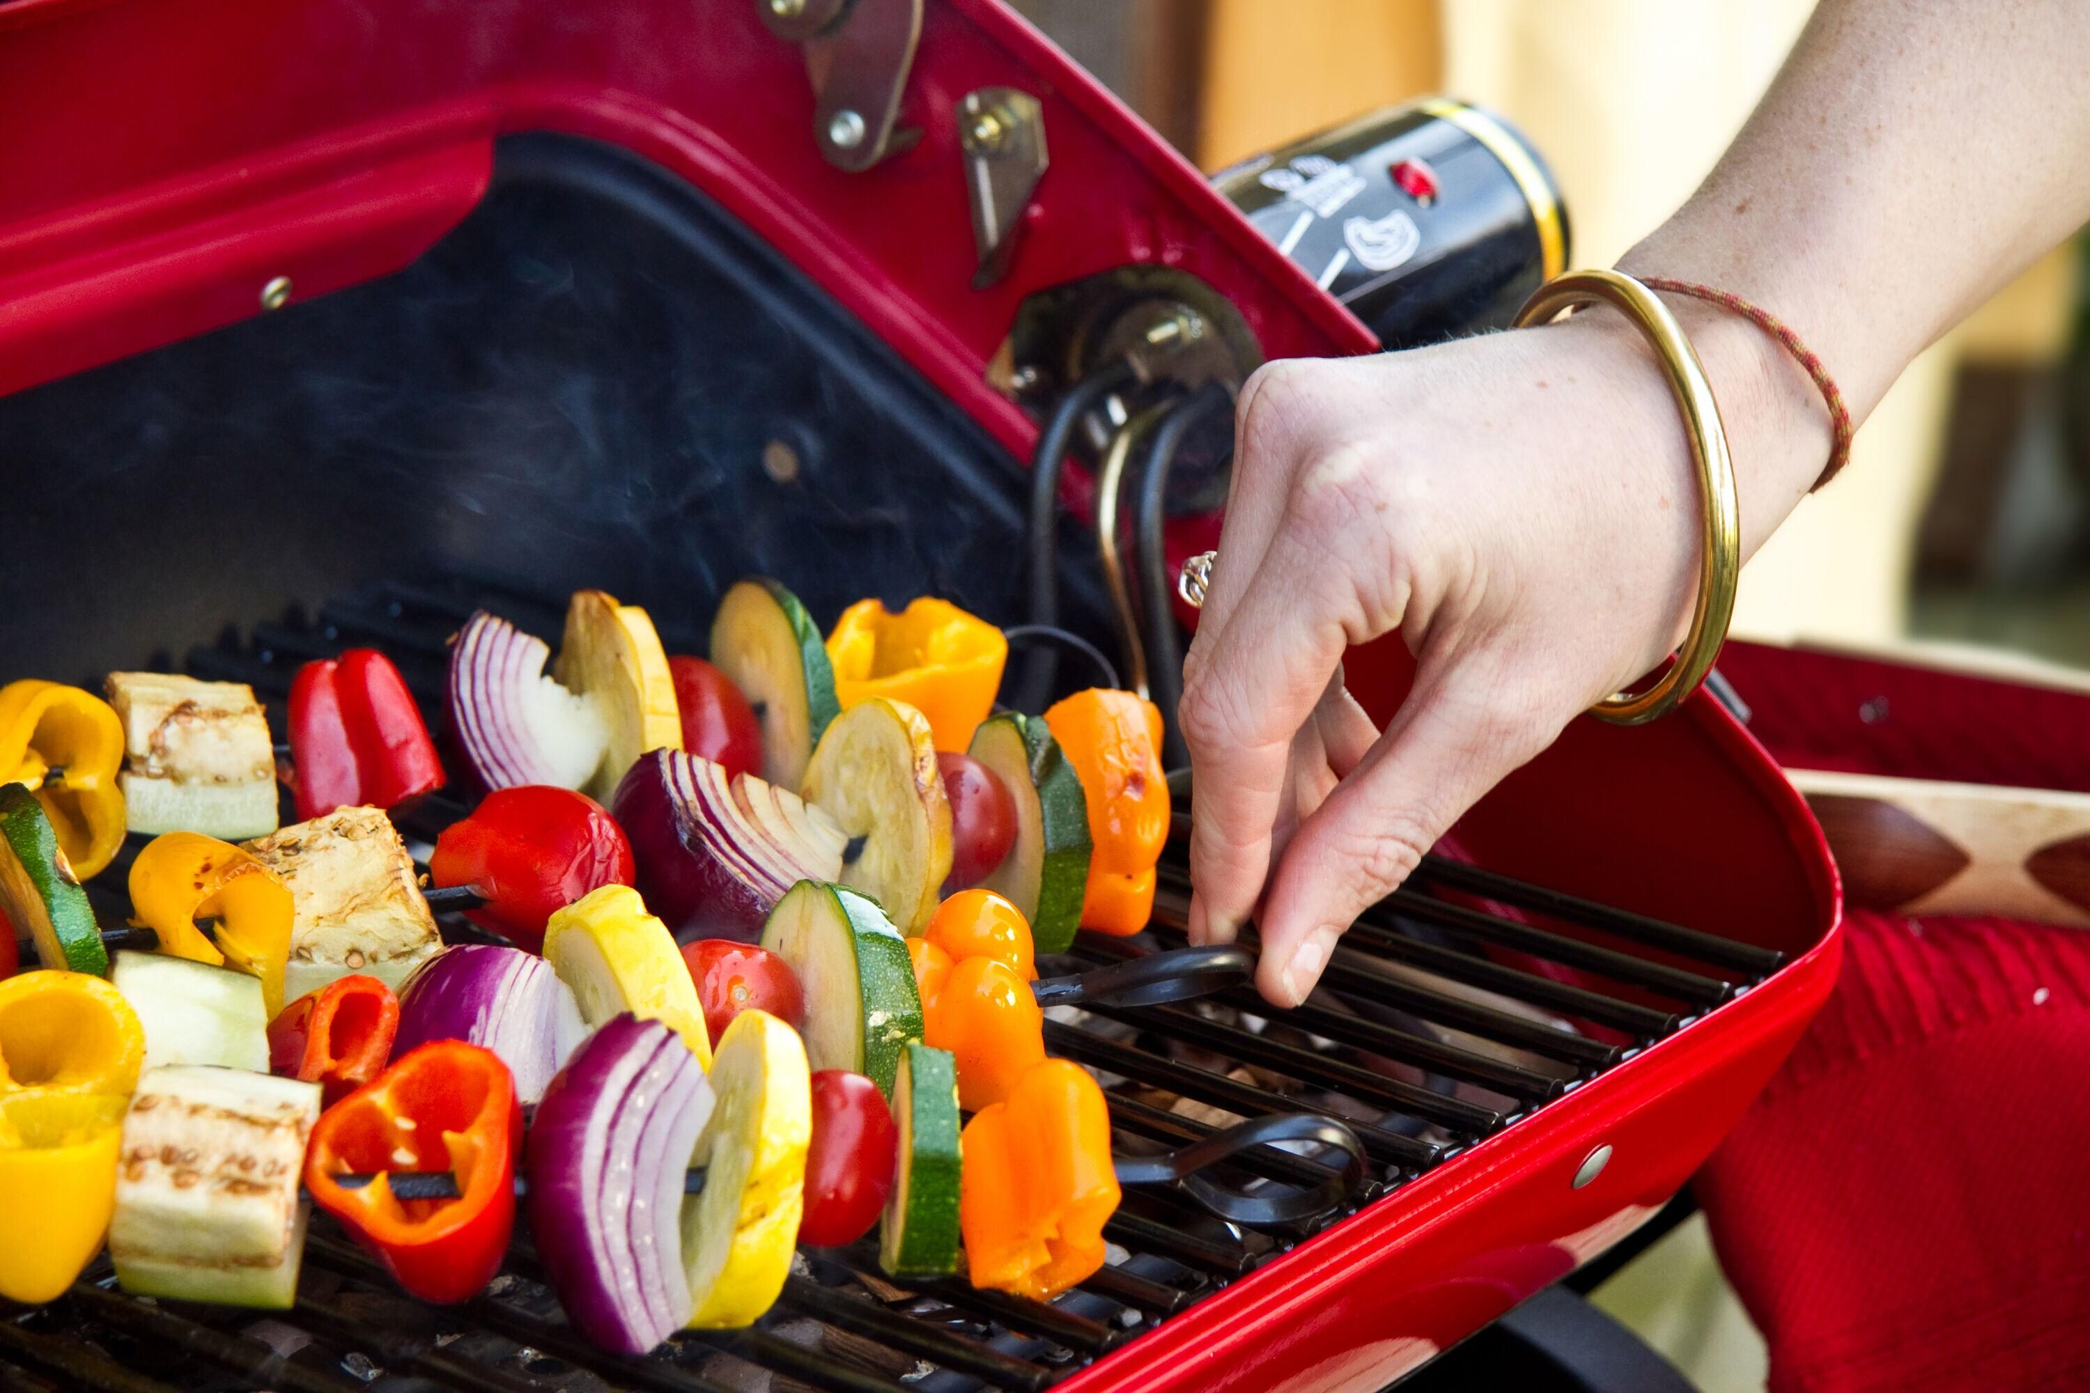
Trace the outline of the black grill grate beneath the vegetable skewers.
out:
M 445 639 L 477 606 L 541 635 L 558 633 L 564 608 L 495 581 L 382 583 L 324 604 L 314 616 L 261 624 L 245 641 L 228 633 L 217 647 L 190 654 L 188 668 L 253 683 L 280 733 L 282 700 L 301 662 L 353 645 L 382 647 L 431 729 L 441 729 Z M 665 627 L 663 639 L 671 652 L 692 652 L 696 635 Z M 464 810 L 437 796 L 401 827 L 410 842 L 431 842 Z M 1179 819 L 1177 833 L 1185 829 Z M 134 852 L 136 842 L 125 856 Z M 130 913 L 125 865 L 119 858 L 90 883 L 104 923 Z M 1187 890 L 1177 835 L 1162 865 L 1154 929 L 1133 940 L 1085 934 L 1066 967 L 1181 942 Z M 1444 900 L 1442 892 L 1467 900 Z M 1484 902 L 1532 919 L 1476 908 Z M 460 940 L 479 936 L 456 915 L 443 919 L 443 929 Z M 1687 1025 L 1781 963 L 1764 948 L 1438 858 L 1425 860 L 1413 888 L 1367 915 L 1344 944 L 1325 990 L 1283 1019 L 1264 1017 L 1267 1007 L 1244 988 L 1195 1005 L 1099 1007 L 1049 1019 L 1047 1046 L 1106 1080 L 1120 1151 L 1181 1147 L 1233 1117 L 1342 1117 L 1371 1157 L 1356 1195 L 1365 1205 Z M 1517 954 L 1576 967 L 1582 984 L 1528 971 Z M 1235 1157 L 1225 1178 L 1310 1186 L 1329 1174 L 1310 1157 L 1264 1147 Z M 629 1357 L 591 1349 L 566 1328 L 527 1234 L 518 1234 L 508 1270 L 485 1295 L 462 1307 L 426 1307 L 397 1293 L 339 1228 L 314 1215 L 293 1312 L 132 1299 L 98 1264 L 48 1307 L 17 1307 L 0 1318 L 0 1387 L 1032 1391 L 1338 1220 L 1256 1230 L 1221 1222 L 1175 1190 L 1127 1190 L 1106 1230 L 1122 1251 L 1049 1305 L 961 1280 L 895 1286 L 878 1274 L 869 1245 L 811 1251 L 752 1330 L 686 1332 L 650 1357 Z

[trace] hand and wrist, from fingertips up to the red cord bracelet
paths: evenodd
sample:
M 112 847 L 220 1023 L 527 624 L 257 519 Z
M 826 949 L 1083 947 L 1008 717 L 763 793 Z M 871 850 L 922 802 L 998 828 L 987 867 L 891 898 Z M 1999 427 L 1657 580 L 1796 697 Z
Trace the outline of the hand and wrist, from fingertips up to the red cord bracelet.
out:
M 1687 305 L 1737 466 L 1789 476 L 1743 485 L 1754 549 L 1812 480 L 1827 416 L 1756 330 Z M 1680 641 L 1701 514 L 1662 370 L 1609 311 L 1250 378 L 1179 710 L 1191 940 L 1231 940 L 1260 898 L 1260 988 L 1302 1000 L 1473 800 Z M 1419 675 L 1381 733 L 1340 662 L 1392 631 Z

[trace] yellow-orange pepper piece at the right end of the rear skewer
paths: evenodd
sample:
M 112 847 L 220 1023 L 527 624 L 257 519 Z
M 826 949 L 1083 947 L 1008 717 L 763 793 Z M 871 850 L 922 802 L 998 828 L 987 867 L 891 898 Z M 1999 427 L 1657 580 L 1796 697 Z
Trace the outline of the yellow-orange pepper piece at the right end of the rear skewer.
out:
M 834 695 L 849 710 L 874 695 L 907 702 L 938 750 L 963 752 L 995 710 L 1009 641 L 947 599 L 920 597 L 901 614 L 880 599 L 842 610 L 828 635 Z

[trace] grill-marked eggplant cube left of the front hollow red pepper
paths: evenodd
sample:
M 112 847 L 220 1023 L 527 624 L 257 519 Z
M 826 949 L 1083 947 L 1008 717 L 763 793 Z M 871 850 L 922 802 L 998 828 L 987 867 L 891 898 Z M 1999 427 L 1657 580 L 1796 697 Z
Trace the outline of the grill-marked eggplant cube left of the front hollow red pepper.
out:
M 320 1086 L 247 1069 L 146 1069 L 123 1115 L 109 1257 L 138 1297 L 284 1309 Z

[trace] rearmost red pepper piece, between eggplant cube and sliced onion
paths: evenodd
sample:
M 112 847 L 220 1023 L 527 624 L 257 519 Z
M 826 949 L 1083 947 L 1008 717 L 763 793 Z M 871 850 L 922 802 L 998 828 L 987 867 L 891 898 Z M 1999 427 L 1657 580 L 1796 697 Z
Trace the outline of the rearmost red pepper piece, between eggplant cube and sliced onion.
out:
M 297 814 L 305 821 L 357 804 L 397 808 L 443 787 L 443 762 L 414 693 L 374 647 L 297 670 L 291 758 Z

